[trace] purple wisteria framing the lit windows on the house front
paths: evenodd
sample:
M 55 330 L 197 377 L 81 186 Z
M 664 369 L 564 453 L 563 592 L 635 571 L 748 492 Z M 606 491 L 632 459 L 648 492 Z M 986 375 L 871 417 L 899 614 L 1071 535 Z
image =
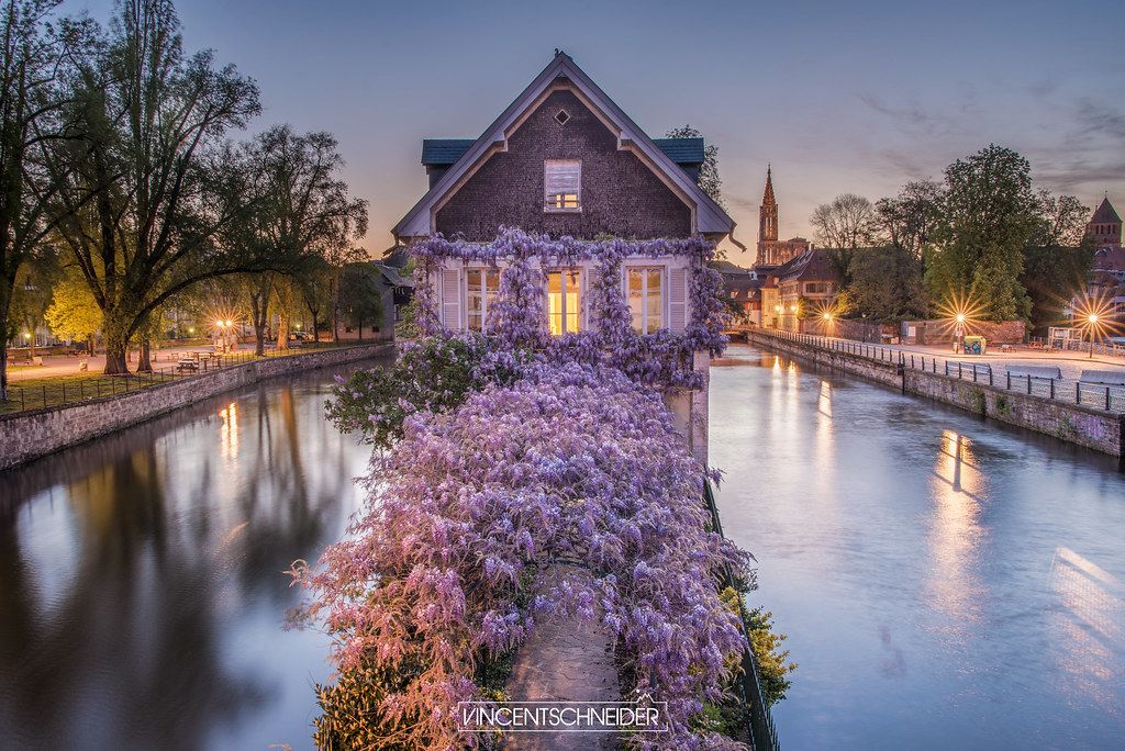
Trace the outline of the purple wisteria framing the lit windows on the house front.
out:
M 714 245 L 702 237 L 577 241 L 506 228 L 492 243 L 436 235 L 411 250 L 418 270 L 415 296 L 425 311 L 420 323 L 429 334 L 443 333 L 433 279 L 444 260 L 457 259 L 503 266 L 487 332 L 501 349 L 534 350 L 544 353 L 550 362 L 604 363 L 644 383 L 698 389 L 704 376 L 694 369 L 694 353 L 718 355 L 727 345 L 722 329 L 728 314 L 719 299 L 722 279 L 708 265 L 714 257 Z M 638 334 L 632 329 L 632 315 L 621 290 L 623 262 L 629 257 L 666 256 L 688 259 L 691 317 L 682 334 L 667 329 Z M 543 306 L 543 269 L 579 262 L 593 263 L 587 287 L 592 331 L 550 336 Z

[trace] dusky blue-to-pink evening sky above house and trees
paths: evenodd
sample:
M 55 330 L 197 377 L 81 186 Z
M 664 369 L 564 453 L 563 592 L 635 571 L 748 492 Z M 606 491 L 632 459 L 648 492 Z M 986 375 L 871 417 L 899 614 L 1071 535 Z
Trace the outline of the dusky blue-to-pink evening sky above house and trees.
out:
M 422 138 L 475 138 L 565 49 L 650 136 L 719 147 L 753 248 L 767 163 L 780 235 L 817 205 L 875 200 L 989 143 L 1037 188 L 1125 211 L 1125 2 L 382 2 L 180 0 L 189 49 L 255 79 L 263 115 L 328 130 L 370 201 L 363 246 L 425 192 Z M 108 19 L 110 0 L 69 0 Z M 753 251 L 752 251 L 753 253 Z M 752 254 L 729 257 L 749 264 Z

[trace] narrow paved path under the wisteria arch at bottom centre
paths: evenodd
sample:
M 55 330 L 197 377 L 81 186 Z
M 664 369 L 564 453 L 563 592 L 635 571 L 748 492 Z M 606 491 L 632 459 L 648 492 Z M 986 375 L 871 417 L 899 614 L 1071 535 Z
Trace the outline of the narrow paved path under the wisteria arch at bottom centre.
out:
M 586 576 L 573 568 L 560 569 L 559 576 L 564 573 Z M 612 634 L 601 624 L 577 617 L 552 617 L 538 624 L 520 648 L 507 694 L 513 702 L 619 700 Z M 619 745 L 610 733 L 513 733 L 504 748 L 610 751 Z

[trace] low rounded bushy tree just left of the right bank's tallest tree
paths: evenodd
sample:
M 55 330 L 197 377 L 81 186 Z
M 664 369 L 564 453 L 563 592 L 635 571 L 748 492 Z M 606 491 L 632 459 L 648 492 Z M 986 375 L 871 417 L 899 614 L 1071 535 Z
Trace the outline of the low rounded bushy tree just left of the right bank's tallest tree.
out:
M 929 308 L 921 259 L 904 247 L 858 250 L 852 256 L 848 275 L 849 313 L 874 320 L 902 320 L 922 317 Z

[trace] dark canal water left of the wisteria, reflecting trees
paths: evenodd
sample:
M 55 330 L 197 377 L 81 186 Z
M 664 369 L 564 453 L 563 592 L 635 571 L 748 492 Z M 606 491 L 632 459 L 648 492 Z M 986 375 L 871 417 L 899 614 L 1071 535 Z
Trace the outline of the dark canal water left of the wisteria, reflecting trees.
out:
M 370 450 L 331 372 L 0 474 L 4 748 L 309 748 L 325 639 L 282 571 L 338 539 Z

